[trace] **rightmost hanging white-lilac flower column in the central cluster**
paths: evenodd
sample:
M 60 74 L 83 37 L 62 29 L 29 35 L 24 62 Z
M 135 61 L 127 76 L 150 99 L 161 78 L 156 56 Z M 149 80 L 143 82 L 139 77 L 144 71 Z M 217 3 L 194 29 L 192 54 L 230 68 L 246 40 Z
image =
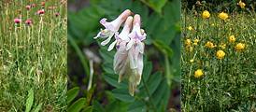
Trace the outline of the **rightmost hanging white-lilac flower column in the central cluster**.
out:
M 127 44 L 126 50 L 128 50 L 128 59 L 130 65 L 131 74 L 129 76 L 129 92 L 134 95 L 136 86 L 139 85 L 143 71 L 143 53 L 144 43 L 141 42 L 146 39 L 144 30 L 140 29 L 140 16 L 135 15 L 134 27 L 130 37 L 130 41 Z

